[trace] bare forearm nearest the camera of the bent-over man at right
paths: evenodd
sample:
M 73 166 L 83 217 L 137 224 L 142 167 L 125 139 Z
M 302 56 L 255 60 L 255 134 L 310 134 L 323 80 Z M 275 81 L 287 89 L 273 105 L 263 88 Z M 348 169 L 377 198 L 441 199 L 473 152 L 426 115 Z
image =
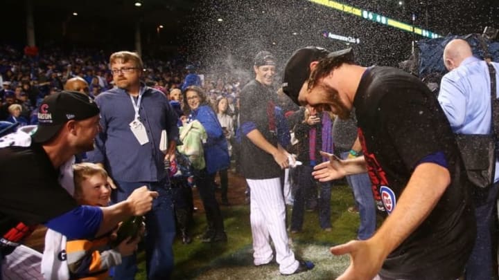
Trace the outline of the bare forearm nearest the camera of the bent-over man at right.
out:
M 449 184 L 450 174 L 445 167 L 434 163 L 423 163 L 414 169 L 394 211 L 378 232 L 369 239 L 374 244 L 379 244 L 383 258 L 386 258 L 423 223 Z

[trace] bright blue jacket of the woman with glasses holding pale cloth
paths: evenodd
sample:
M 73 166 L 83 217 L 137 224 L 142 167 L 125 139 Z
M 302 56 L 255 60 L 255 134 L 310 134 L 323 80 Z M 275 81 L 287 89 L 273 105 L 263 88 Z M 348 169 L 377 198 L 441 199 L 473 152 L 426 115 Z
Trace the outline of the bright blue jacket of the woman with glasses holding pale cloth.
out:
M 204 160 L 207 171 L 213 174 L 216 171 L 229 168 L 230 158 L 222 127 L 215 112 L 208 105 L 199 106 L 191 111 L 189 121 L 198 120 L 207 131 L 208 140 L 203 145 Z

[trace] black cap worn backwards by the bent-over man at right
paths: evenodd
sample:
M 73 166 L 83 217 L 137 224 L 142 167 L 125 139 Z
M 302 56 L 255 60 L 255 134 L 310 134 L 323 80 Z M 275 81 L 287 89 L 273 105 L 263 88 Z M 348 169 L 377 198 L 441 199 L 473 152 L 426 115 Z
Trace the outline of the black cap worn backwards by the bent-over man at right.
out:
M 283 74 L 283 92 L 288 95 L 293 102 L 299 104 L 298 95 L 304 82 L 310 76 L 310 63 L 319 61 L 324 57 L 338 57 L 345 61 L 353 62 L 353 50 L 347 48 L 330 53 L 329 50 L 317 46 L 307 46 L 295 50 L 286 62 Z

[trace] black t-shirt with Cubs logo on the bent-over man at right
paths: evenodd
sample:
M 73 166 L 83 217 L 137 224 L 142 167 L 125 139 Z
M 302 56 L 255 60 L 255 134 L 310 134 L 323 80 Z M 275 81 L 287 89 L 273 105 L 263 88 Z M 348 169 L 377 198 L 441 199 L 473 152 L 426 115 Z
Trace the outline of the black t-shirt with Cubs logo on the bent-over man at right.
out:
M 475 218 L 471 185 L 435 95 L 408 73 L 373 67 L 362 76 L 353 105 L 379 210 L 392 213 L 412 172 L 426 156 L 444 153 L 451 178 L 426 220 L 389 254 L 380 275 L 457 279 L 473 248 Z

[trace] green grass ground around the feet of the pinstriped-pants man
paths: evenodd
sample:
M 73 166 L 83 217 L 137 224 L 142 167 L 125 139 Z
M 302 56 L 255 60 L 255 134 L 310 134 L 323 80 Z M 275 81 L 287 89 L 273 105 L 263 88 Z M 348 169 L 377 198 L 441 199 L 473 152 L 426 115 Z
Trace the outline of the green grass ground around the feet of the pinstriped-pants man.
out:
M 277 264 L 256 268 L 252 259 L 252 236 L 249 227 L 249 205 L 222 209 L 225 218 L 227 243 L 205 244 L 197 238 L 206 227 L 204 213 L 194 215 L 194 241 L 184 245 L 177 239 L 174 244 L 175 270 L 173 279 L 334 279 L 345 270 L 349 256 L 333 256 L 331 245 L 344 243 L 356 237 L 358 214 L 347 208 L 353 204 L 351 190 L 346 186 L 333 187 L 331 195 L 331 223 L 333 230 L 324 232 L 319 227 L 317 212 L 306 212 L 304 230 L 289 234 L 295 256 L 315 263 L 315 268 L 289 277 L 279 274 Z M 290 217 L 291 207 L 288 207 Z M 143 252 L 139 254 L 139 274 L 146 279 Z

